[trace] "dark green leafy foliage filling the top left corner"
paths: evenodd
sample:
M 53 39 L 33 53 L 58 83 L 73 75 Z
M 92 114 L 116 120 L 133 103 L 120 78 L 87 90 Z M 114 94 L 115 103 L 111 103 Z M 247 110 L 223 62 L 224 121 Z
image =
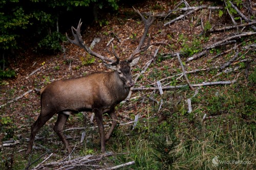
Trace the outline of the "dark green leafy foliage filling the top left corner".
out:
M 65 36 L 58 33 L 55 28 L 59 17 L 77 10 L 77 7 L 84 8 L 94 4 L 100 9 L 111 7 L 117 10 L 118 1 L 31 0 L 27 3 L 2 1 L 0 3 L 0 50 L 17 49 L 22 47 L 24 40 L 29 41 L 33 38 L 37 38 L 33 39 L 33 42 L 38 41 L 39 47 L 53 51 L 61 50 L 58 41 L 62 41 Z M 59 15 L 60 13 L 62 15 Z

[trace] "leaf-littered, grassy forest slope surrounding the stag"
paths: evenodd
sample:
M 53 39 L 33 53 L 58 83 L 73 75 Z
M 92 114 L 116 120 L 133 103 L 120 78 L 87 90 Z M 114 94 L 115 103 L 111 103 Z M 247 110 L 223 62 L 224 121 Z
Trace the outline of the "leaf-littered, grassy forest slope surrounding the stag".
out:
M 132 70 L 134 77 L 141 75 L 130 101 L 116 107 L 120 125 L 106 142 L 106 149 L 112 151 L 110 155 L 100 154 L 95 122 L 87 125 L 86 140 L 80 142 L 84 115 L 90 119 L 93 113 L 70 116 L 65 127 L 69 130 L 65 134 L 74 148 L 71 160 L 79 157 L 98 159 L 81 169 L 100 169 L 132 161 L 135 164 L 123 169 L 256 168 L 255 23 L 252 23 L 254 28 L 245 25 L 255 22 L 255 6 L 252 5 L 248 11 L 249 5 L 243 1 L 239 10 L 247 17 L 250 15 L 250 21 L 244 21 L 239 13 L 231 12 L 238 27 L 229 29 L 234 23 L 223 2 L 187 2 L 190 7 L 205 7 L 185 9 L 187 4 L 170 1 L 133 4 L 144 15 L 149 11 L 156 15 L 148 31 L 152 45 L 140 54 L 140 61 Z M 206 8 L 210 6 L 218 9 Z M 177 7 L 180 10 L 165 18 L 168 11 Z M 165 24 L 182 14 L 186 16 Z M 98 23 L 82 25 L 82 37 L 88 45 L 94 38 L 100 38 L 93 51 L 110 58 L 113 58 L 112 45 L 106 44 L 113 39 L 111 42 L 116 53 L 125 60 L 137 47 L 143 28 L 143 22 L 133 8 L 120 5 L 117 14 L 106 13 Z M 25 155 L 30 126 L 40 114 L 40 95 L 36 89 L 59 79 L 111 71 L 82 48 L 68 41 L 63 43 L 63 47 L 65 52 L 57 55 L 38 55 L 33 51 L 20 54 L 11 63 L 16 77 L 1 82 L 1 169 L 32 169 L 36 166 L 35 169 L 79 168 L 79 163 L 74 161 L 63 163 L 68 153 L 52 130 L 57 116 L 51 118 L 37 134 L 41 138 L 35 140 L 37 147 L 32 155 Z M 194 90 L 183 78 L 176 53 L 180 54 Z M 151 59 L 152 63 L 143 72 Z M 163 95 L 159 93 L 157 81 L 166 88 Z M 214 82 L 217 83 L 212 85 Z M 150 89 L 152 87 L 154 89 Z M 18 96 L 22 98 L 14 100 Z M 191 111 L 188 111 L 188 101 L 191 101 Z M 139 121 L 132 130 L 136 115 Z M 104 116 L 104 125 L 106 129 L 111 125 L 108 116 Z M 12 140 L 12 144 L 4 146 L 8 140 Z M 240 163 L 227 163 L 230 160 Z M 58 163 L 54 164 L 54 161 Z

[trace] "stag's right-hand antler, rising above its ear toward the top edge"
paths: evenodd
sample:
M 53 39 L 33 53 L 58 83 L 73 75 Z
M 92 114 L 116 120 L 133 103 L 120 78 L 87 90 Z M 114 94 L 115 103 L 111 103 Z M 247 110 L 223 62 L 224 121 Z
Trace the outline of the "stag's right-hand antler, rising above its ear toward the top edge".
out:
M 153 14 L 153 16 L 151 16 L 151 13 L 150 13 L 150 16 L 146 19 L 140 12 L 139 10 L 136 10 L 135 8 L 133 8 L 141 17 L 142 21 L 144 22 L 144 33 L 140 39 L 140 42 L 139 42 L 139 45 L 137 46 L 137 48 L 135 49 L 135 51 L 133 52 L 133 54 L 129 57 L 128 61 L 132 61 L 134 56 L 136 56 L 137 54 L 141 53 L 141 52 L 144 52 L 145 50 L 147 50 L 147 48 L 150 46 L 150 38 L 148 38 L 148 41 L 147 41 L 147 45 L 145 47 L 142 48 L 142 45 L 145 41 L 145 38 L 146 38 L 146 35 L 147 35 L 147 32 L 148 30 L 150 29 L 150 26 L 152 25 L 152 23 L 154 22 L 155 20 L 155 16 Z

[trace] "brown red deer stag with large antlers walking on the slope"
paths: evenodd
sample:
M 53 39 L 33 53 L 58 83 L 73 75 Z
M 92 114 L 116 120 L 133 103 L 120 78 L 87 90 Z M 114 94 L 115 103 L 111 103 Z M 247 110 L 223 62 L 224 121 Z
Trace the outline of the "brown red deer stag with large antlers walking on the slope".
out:
M 93 52 L 82 40 L 80 34 L 82 23 L 79 21 L 76 29 L 72 27 L 74 40 L 67 36 L 68 40 L 84 48 L 90 55 L 101 59 L 107 68 L 114 69 L 114 71 L 94 73 L 82 78 L 58 80 L 42 88 L 40 90 L 41 112 L 35 123 L 31 126 L 31 135 L 27 153 L 30 153 L 32 150 L 36 133 L 55 113 L 58 114 L 58 118 L 53 130 L 65 144 L 68 153 L 71 153 L 72 149 L 62 131 L 69 115 L 81 111 L 94 112 L 99 128 L 101 152 L 105 152 L 105 142 L 109 140 L 111 133 L 117 125 L 115 106 L 127 97 L 130 88 L 134 86 L 134 80 L 131 75 L 131 66 L 136 65 L 140 58 L 134 57 L 145 51 L 150 45 L 150 39 L 148 38 L 147 45 L 142 47 L 148 29 L 155 18 L 150 15 L 148 19 L 145 19 L 138 10 L 135 11 L 141 16 L 144 22 L 144 33 L 136 50 L 126 61 L 119 61 L 114 48 L 113 54 L 116 60 L 103 57 Z M 113 123 L 109 132 L 105 135 L 102 114 L 106 112 L 111 116 Z

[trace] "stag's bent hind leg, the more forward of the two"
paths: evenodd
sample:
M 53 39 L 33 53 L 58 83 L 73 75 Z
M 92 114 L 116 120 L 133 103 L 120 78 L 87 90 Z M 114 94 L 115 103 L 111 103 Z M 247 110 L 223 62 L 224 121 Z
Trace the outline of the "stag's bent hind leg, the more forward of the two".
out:
M 69 115 L 64 114 L 64 113 L 59 113 L 57 122 L 55 123 L 53 130 L 57 133 L 60 140 L 65 144 L 65 147 L 67 148 L 68 153 L 70 154 L 72 152 L 72 149 L 69 145 L 68 140 L 66 139 L 65 135 L 63 134 L 63 129 L 64 129 L 64 126 L 65 126 L 68 118 L 69 118 Z

